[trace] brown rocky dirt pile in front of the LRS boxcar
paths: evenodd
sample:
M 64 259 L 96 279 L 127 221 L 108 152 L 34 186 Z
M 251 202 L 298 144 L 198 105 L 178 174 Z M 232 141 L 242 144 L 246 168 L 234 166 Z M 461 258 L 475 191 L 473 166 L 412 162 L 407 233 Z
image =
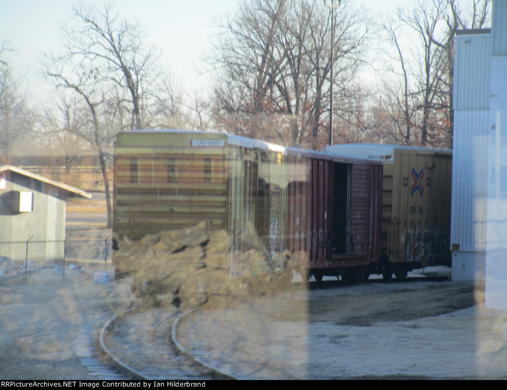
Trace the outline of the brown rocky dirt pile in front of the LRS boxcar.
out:
M 233 251 L 229 233 L 207 230 L 204 222 L 138 241 L 116 240 L 115 277 L 133 278 L 133 294 L 147 304 L 230 306 L 246 294 L 264 295 L 292 279 L 292 271 L 284 267 L 286 253 L 270 258 L 257 244 L 248 248 L 245 237 L 245 250 Z

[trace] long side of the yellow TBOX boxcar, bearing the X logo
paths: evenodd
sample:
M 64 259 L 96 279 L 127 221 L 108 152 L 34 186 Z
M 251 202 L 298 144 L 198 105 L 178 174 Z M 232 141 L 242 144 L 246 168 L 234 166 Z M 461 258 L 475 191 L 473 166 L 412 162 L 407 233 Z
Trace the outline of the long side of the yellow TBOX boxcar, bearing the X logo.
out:
M 451 164 L 450 152 L 395 150 L 389 261 L 450 264 Z

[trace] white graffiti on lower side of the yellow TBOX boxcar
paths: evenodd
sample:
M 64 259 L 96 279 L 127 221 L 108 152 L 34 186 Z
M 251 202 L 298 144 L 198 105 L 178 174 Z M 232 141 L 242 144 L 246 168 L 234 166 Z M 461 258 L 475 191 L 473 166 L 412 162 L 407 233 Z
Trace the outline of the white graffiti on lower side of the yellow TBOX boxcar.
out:
M 408 261 L 436 259 L 449 255 L 449 236 L 442 230 L 408 230 L 401 237 Z

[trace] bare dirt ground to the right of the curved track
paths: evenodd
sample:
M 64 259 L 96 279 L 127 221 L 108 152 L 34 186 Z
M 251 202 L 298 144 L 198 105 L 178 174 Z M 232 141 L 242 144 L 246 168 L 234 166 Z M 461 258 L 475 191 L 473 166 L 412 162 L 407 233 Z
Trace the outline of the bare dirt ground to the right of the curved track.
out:
M 507 378 L 507 315 L 475 303 L 482 291 L 420 281 L 301 289 L 193 313 L 178 337 L 245 379 Z

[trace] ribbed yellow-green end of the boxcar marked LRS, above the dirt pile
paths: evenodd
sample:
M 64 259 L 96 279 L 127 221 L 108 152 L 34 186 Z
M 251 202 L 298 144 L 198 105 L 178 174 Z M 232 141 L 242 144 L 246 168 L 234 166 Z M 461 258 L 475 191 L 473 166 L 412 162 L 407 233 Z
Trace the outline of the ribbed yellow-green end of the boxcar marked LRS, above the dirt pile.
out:
M 208 134 L 120 133 L 115 151 L 113 229 L 148 233 L 206 221 L 226 227 L 224 146 L 193 146 Z M 216 138 L 216 136 L 215 136 Z M 226 138 L 220 140 L 226 144 Z

